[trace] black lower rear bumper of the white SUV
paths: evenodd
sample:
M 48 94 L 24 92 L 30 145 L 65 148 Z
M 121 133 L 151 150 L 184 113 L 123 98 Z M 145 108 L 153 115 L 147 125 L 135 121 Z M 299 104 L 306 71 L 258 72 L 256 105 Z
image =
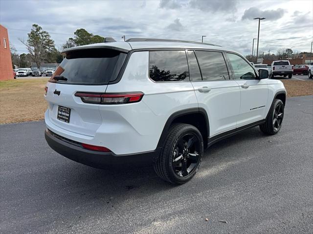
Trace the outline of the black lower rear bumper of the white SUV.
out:
M 57 153 L 73 161 L 95 168 L 150 165 L 160 152 L 160 149 L 157 148 L 154 151 L 137 154 L 115 155 L 112 152 L 105 153 L 88 150 L 80 146 L 78 142 L 61 137 L 48 129 L 45 130 L 45 140 Z

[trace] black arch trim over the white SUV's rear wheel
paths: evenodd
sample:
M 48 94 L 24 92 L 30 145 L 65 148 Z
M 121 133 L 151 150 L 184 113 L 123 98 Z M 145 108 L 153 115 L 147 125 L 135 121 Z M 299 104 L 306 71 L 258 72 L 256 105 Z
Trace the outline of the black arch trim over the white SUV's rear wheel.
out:
M 163 147 L 163 143 L 167 136 L 167 133 L 173 123 L 187 123 L 194 125 L 201 132 L 204 146 L 208 143 L 208 137 L 210 128 L 209 128 L 209 119 L 206 111 L 203 108 L 189 108 L 185 110 L 180 110 L 178 112 L 173 113 L 170 117 L 168 117 L 159 141 L 157 143 L 157 148 Z

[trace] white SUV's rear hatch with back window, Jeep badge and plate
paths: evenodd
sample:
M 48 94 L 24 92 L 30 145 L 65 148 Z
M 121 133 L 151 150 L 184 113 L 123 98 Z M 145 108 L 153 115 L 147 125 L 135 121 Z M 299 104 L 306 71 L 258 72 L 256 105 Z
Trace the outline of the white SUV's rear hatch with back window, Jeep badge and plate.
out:
M 45 117 L 62 129 L 93 137 L 102 123 L 99 104 L 85 103 L 75 93 L 105 93 L 126 55 L 105 48 L 68 51 L 47 84 Z

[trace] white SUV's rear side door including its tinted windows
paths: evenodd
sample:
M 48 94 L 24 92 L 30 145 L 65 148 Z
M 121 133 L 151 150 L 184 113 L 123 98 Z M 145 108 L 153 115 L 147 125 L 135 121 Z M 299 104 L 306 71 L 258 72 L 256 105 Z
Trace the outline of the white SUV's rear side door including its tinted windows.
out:
M 188 50 L 187 55 L 199 107 L 208 114 L 210 137 L 236 128 L 240 89 L 235 80 L 229 79 L 223 53 Z

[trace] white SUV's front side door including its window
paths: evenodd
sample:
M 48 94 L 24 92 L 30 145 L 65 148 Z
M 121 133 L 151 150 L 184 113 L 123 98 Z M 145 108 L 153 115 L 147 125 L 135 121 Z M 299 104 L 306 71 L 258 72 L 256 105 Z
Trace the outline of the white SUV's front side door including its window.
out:
M 231 67 L 231 78 L 238 83 L 241 91 L 237 127 L 264 119 L 268 103 L 267 79 L 258 79 L 251 64 L 243 57 L 234 53 L 226 55 Z

